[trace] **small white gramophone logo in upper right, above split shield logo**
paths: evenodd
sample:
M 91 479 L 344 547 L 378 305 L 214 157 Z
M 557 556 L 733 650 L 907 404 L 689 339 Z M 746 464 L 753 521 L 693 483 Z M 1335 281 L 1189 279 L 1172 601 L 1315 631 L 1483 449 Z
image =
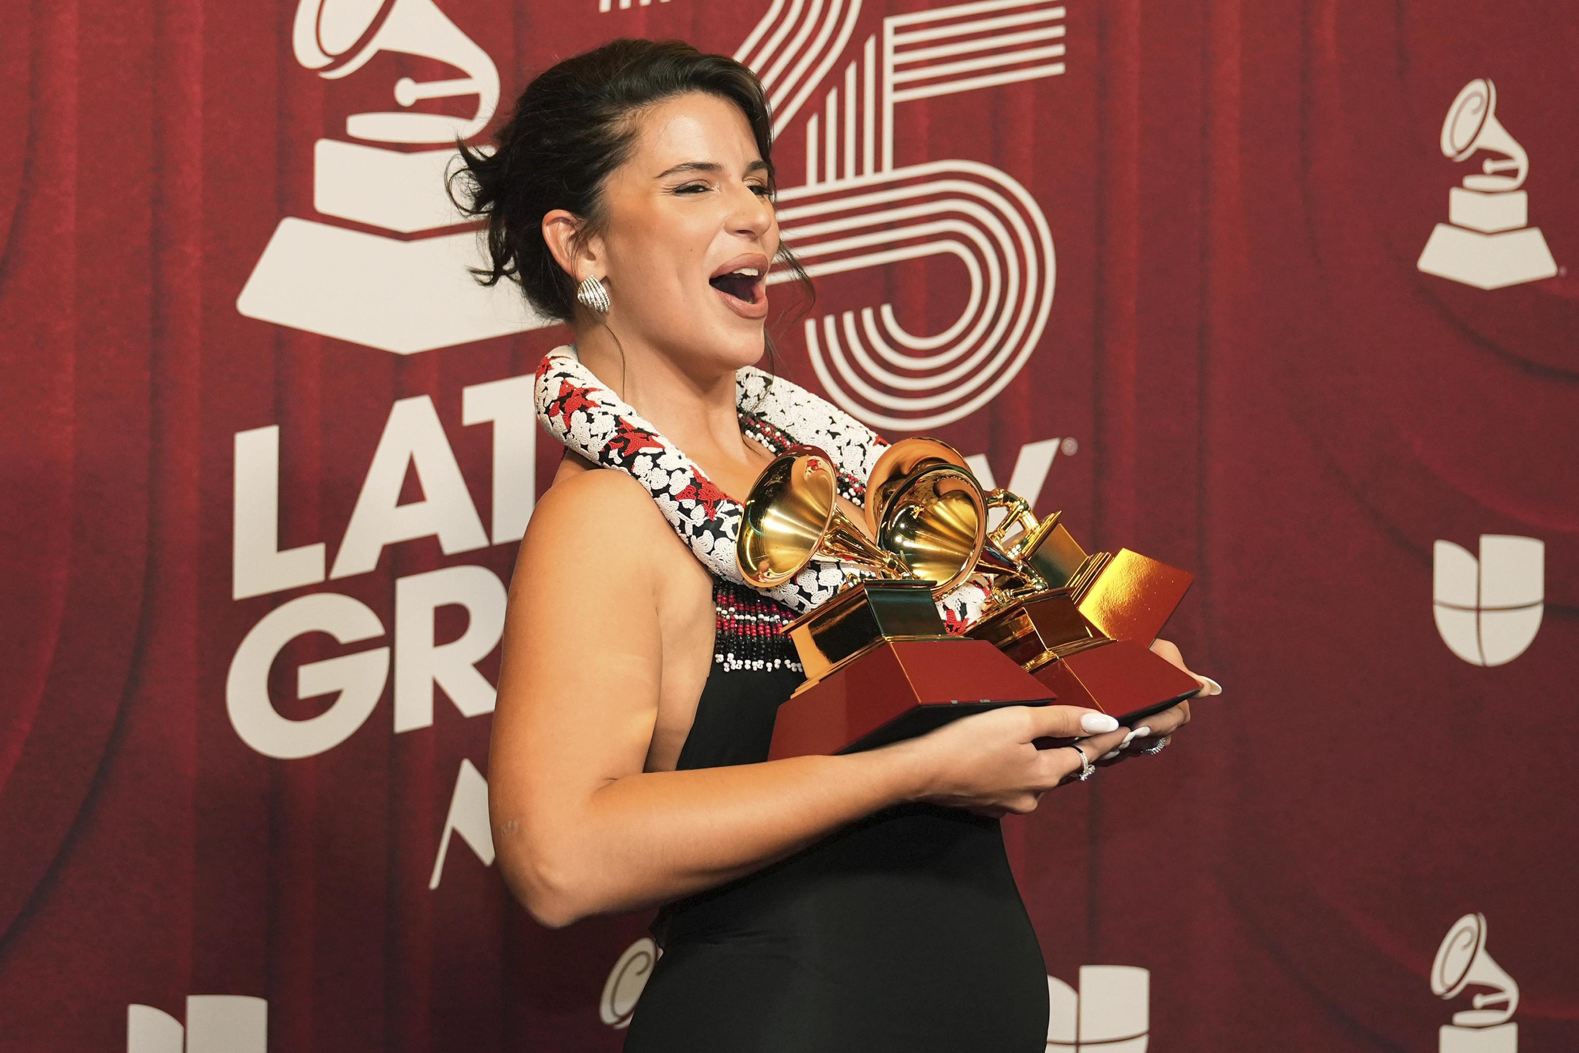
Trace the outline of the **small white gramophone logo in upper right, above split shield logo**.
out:
M 1420 254 L 1420 270 L 1480 289 L 1502 289 L 1551 278 L 1557 262 L 1540 227 L 1530 221 L 1530 197 L 1524 186 L 1530 158 L 1497 120 L 1497 87 L 1487 79 L 1470 81 L 1453 99 L 1442 123 L 1442 153 L 1454 161 L 1487 150 L 1480 174 L 1465 175 L 1464 186 L 1448 191 L 1448 219 L 1438 223 Z

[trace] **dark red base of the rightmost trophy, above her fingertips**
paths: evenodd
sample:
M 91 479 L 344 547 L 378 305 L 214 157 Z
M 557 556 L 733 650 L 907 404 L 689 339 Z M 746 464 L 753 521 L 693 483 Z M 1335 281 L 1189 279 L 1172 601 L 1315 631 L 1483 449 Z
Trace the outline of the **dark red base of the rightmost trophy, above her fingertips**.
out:
M 1058 695 L 1060 706 L 1099 709 L 1126 728 L 1200 690 L 1195 677 L 1134 639 L 1082 647 L 1031 674 Z

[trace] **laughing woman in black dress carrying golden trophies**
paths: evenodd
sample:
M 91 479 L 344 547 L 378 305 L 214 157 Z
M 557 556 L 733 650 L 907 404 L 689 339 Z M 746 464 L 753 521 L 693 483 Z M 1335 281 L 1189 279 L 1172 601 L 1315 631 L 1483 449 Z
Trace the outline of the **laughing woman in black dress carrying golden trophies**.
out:
M 627 1050 L 1033 1053 L 1045 969 L 998 816 L 1090 774 L 1086 758 L 1165 742 L 1189 707 L 1132 736 L 1097 712 L 1015 706 L 867 753 L 764 759 L 801 680 L 769 631 L 793 611 L 676 530 L 744 497 L 771 459 L 742 433 L 736 374 L 764 354 L 771 262 L 805 275 L 778 243 L 769 139 L 745 66 L 624 39 L 542 74 L 497 152 L 467 153 L 486 279 L 518 279 L 573 327 L 575 358 L 554 362 L 581 377 L 559 380 L 545 417 L 579 453 L 510 584 L 499 864 L 551 927 L 665 905 Z M 600 433 L 600 406 L 627 417 Z M 616 431 L 643 437 L 636 456 L 587 437 Z M 685 523 L 665 516 L 676 494 L 655 467 L 674 463 L 714 494 Z M 1037 750 L 1042 736 L 1085 737 Z

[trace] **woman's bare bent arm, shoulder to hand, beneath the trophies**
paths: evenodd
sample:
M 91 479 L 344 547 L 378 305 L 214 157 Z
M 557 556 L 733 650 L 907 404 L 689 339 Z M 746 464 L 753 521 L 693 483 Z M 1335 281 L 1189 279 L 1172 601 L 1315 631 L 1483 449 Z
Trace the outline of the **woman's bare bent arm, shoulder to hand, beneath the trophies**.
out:
M 570 477 L 532 513 L 510 583 L 488 788 L 501 870 L 542 924 L 723 884 L 902 800 L 1028 811 L 1078 767 L 1071 750 L 1031 745 L 1082 734 L 1086 710 L 1052 706 L 848 756 L 643 772 L 663 673 L 660 546 L 676 543 L 646 491 L 614 472 Z

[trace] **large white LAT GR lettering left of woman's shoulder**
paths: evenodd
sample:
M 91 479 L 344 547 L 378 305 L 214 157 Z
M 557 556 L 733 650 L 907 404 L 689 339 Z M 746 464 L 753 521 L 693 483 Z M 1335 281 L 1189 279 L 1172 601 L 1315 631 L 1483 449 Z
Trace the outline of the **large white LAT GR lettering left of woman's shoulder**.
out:
M 519 540 L 532 515 L 535 477 L 532 384 L 534 376 L 523 374 L 461 388 L 461 425 L 493 425 L 491 534 L 433 399 L 417 395 L 390 407 L 332 568 L 324 541 L 279 548 L 279 428 L 235 433 L 231 595 L 242 600 L 371 573 L 385 548 L 404 541 L 434 538 L 445 556 L 455 556 Z M 423 496 L 399 504 L 409 474 Z M 441 606 L 461 606 L 467 619 L 461 636 L 444 644 L 434 624 Z M 226 679 L 226 712 L 246 745 L 281 759 L 316 756 L 351 737 L 373 715 L 392 673 L 396 733 L 433 725 L 434 688 L 464 717 L 491 714 L 494 688 L 475 666 L 499 644 L 504 606 L 504 583 L 486 567 L 398 578 L 390 647 L 381 641 L 384 619 L 362 600 L 298 595 L 268 611 L 242 639 Z M 268 674 L 294 639 L 311 633 L 328 633 L 339 644 L 381 646 L 300 665 L 297 696 L 333 698 L 316 707 L 317 715 L 292 720 L 276 710 Z

